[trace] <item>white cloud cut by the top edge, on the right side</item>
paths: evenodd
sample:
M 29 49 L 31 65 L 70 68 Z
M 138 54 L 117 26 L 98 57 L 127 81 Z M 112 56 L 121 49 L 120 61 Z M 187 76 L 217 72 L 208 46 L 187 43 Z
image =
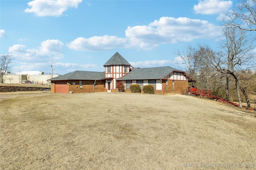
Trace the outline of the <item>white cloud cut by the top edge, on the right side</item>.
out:
M 197 5 L 194 5 L 196 14 L 221 14 L 227 12 L 232 7 L 231 0 L 199 0 Z

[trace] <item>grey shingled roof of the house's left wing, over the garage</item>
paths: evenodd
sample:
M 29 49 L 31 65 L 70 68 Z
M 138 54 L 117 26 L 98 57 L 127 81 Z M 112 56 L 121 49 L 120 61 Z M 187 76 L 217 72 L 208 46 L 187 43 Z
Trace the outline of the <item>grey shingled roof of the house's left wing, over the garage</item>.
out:
M 105 72 L 95 72 L 95 71 L 73 71 L 67 74 L 60 75 L 49 79 L 53 80 L 100 80 L 105 77 Z

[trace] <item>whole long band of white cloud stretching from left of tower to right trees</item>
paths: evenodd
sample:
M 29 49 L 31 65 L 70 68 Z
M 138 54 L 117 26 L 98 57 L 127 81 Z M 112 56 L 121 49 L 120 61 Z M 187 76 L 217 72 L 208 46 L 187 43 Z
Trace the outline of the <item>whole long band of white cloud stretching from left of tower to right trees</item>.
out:
M 90 38 L 78 37 L 68 43 L 77 51 L 103 51 L 116 48 L 152 50 L 160 44 L 189 42 L 194 39 L 216 38 L 221 34 L 219 27 L 205 20 L 162 17 L 148 25 L 128 27 L 126 37 L 104 35 Z

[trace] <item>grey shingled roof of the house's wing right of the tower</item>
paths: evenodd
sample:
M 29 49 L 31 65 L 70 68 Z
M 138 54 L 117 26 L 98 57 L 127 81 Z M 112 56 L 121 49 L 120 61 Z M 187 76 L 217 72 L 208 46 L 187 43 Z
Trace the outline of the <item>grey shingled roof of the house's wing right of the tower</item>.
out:
M 133 68 L 129 74 L 117 80 L 160 80 L 173 71 L 184 72 L 170 66 L 152 68 Z

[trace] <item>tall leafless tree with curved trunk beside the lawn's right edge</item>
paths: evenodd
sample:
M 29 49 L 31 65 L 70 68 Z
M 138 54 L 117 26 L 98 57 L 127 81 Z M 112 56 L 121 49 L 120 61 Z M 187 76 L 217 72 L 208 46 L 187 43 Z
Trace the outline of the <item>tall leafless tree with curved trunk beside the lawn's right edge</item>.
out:
M 242 107 L 239 72 L 255 68 L 255 53 L 252 52 L 256 47 L 255 38 L 249 38 L 244 30 L 237 27 L 224 26 L 222 30 L 225 35 L 225 39 L 220 43 L 223 50 L 217 55 L 207 56 L 204 63 L 219 73 L 234 78 L 239 106 Z M 249 100 L 247 104 L 250 106 Z

